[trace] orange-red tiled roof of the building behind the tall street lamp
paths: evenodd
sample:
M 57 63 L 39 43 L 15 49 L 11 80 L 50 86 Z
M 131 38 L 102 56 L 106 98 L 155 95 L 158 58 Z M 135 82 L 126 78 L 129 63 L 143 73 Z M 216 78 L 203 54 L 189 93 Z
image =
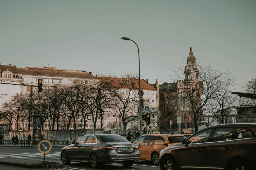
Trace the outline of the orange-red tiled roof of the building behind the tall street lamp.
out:
M 101 81 L 109 81 L 113 83 L 113 86 L 115 86 L 116 88 L 121 86 L 121 81 L 125 80 L 126 78 L 118 78 L 118 77 L 98 77 Z M 135 89 L 139 89 L 139 79 L 135 78 Z M 125 87 L 120 87 L 120 88 L 125 88 Z M 144 79 L 141 79 L 141 89 L 142 90 L 156 90 L 156 88 L 154 86 L 152 86 L 150 83 L 146 83 L 146 81 Z

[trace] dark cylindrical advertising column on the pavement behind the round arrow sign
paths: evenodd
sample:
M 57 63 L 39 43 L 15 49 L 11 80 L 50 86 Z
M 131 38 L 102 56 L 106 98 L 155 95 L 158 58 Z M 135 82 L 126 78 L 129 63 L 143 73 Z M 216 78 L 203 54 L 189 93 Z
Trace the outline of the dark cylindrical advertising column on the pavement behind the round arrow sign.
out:
M 42 117 L 42 115 L 34 114 L 34 115 L 32 115 L 32 117 L 33 117 L 33 124 L 34 124 L 34 129 L 32 130 L 33 143 L 34 143 L 34 145 L 38 145 L 38 143 L 42 140 L 41 139 L 41 117 Z

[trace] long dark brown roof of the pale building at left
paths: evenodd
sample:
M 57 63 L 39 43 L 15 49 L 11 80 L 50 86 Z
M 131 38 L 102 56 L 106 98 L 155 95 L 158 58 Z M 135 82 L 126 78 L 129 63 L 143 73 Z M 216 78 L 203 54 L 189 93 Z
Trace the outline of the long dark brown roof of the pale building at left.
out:
M 95 78 L 93 75 L 82 71 L 65 71 L 61 69 L 40 69 L 33 67 L 18 68 L 23 75 L 69 77 L 69 78 Z

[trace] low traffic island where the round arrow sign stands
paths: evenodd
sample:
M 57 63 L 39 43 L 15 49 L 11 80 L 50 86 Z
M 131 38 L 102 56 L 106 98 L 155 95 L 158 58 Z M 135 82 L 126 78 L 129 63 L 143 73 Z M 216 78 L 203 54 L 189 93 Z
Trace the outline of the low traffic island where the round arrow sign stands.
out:
M 43 161 L 19 159 L 19 158 L 1 158 L 0 164 L 26 167 L 26 168 L 61 168 L 63 167 L 62 163 L 56 162 L 46 162 L 43 164 Z

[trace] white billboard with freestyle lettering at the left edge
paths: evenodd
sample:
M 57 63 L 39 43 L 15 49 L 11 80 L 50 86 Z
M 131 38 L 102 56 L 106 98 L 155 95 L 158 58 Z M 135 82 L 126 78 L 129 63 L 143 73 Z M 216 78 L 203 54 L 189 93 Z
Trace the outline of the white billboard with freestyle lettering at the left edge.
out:
M 11 99 L 11 96 L 16 93 L 21 93 L 21 86 L 12 85 L 19 83 L 0 84 L 0 110 L 2 110 L 3 103 Z

